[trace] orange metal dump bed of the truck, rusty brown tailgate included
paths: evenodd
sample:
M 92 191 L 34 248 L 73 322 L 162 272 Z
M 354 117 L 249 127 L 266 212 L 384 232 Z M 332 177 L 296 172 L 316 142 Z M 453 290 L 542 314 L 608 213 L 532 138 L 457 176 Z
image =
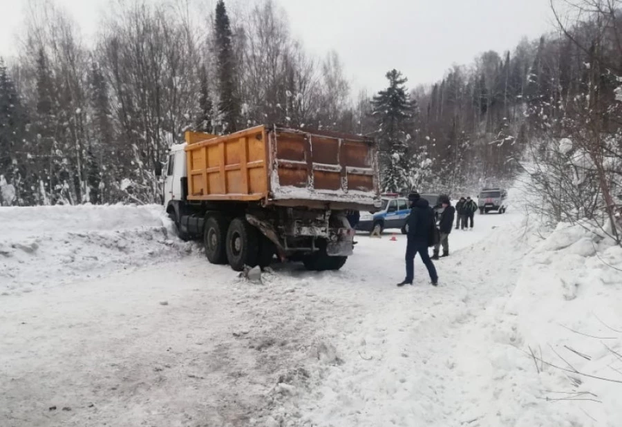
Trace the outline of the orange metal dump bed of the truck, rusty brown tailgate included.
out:
M 186 142 L 189 200 L 363 209 L 378 198 L 376 147 L 365 137 L 256 126 L 187 132 Z

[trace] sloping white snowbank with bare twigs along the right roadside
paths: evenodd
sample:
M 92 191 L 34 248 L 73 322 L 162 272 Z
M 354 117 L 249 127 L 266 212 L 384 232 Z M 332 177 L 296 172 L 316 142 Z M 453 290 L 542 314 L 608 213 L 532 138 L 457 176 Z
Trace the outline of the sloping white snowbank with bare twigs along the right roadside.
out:
M 528 233 L 527 233 L 528 234 Z M 458 344 L 480 426 L 619 426 L 622 248 L 559 225 Z M 483 345 L 482 345 L 483 344 Z M 486 403 L 488 402 L 488 403 Z

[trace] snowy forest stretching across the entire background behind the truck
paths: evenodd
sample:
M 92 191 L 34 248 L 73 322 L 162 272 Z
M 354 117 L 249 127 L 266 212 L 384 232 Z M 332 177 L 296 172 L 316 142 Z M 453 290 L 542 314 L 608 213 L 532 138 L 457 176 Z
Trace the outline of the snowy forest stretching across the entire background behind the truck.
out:
M 19 55 L 0 63 L 0 174 L 12 188 L 5 204 L 158 202 L 156 171 L 185 129 L 279 123 L 374 135 L 386 190 L 458 193 L 528 170 L 554 192 L 550 159 L 558 175 L 574 173 L 569 191 L 584 200 L 556 219 L 603 207 L 614 214 L 622 152 L 618 0 L 552 3 L 551 33 L 482 53 L 413 90 L 408 70 L 394 70 L 376 96 L 352 93 L 337 53 L 309 55 L 276 1 L 235 11 L 218 1 L 202 25 L 185 0 L 114 5 L 86 46 L 53 1 L 30 3 Z M 402 92 L 390 101 L 408 118 L 398 123 L 386 102 Z M 572 161 L 577 156 L 583 166 Z M 586 196 L 593 191 L 599 196 Z

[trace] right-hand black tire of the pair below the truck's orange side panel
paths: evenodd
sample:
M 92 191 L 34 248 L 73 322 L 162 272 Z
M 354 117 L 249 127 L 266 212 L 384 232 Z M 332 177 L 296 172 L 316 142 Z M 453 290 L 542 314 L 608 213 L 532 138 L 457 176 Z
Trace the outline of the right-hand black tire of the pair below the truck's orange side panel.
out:
M 236 272 L 244 266 L 256 267 L 259 255 L 259 233 L 243 218 L 235 218 L 227 231 L 227 260 Z

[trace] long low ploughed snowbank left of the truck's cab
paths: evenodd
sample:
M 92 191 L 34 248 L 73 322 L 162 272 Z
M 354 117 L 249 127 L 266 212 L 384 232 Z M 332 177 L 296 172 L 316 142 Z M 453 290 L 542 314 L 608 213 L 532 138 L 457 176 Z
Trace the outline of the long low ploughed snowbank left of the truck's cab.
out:
M 0 207 L 0 294 L 179 256 L 160 205 Z

